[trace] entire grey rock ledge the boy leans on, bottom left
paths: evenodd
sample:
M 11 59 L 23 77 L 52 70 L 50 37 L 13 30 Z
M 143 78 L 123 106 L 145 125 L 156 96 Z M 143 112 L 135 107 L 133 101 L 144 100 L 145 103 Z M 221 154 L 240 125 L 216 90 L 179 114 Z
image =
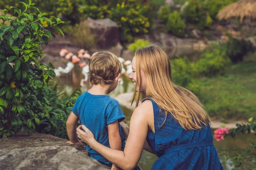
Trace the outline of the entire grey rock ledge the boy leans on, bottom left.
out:
M 0 170 L 107 170 L 87 156 L 86 148 L 66 139 L 23 132 L 0 139 Z

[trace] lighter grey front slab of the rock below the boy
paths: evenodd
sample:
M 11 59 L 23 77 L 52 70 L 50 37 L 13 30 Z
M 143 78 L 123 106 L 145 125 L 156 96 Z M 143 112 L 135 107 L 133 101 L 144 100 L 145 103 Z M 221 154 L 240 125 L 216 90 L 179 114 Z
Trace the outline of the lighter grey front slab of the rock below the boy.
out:
M 70 146 L 0 150 L 1 170 L 107 170 Z

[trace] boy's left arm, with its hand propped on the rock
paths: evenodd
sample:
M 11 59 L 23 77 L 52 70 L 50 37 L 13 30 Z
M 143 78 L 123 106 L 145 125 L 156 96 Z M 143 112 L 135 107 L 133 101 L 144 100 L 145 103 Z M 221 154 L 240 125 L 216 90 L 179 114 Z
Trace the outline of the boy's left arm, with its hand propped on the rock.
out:
M 70 141 L 67 142 L 67 144 L 76 144 L 80 147 L 84 147 L 82 142 L 78 139 L 76 134 L 76 123 L 79 120 L 79 117 L 76 116 L 73 111 L 71 111 L 70 116 L 67 118 L 67 135 L 70 139 Z

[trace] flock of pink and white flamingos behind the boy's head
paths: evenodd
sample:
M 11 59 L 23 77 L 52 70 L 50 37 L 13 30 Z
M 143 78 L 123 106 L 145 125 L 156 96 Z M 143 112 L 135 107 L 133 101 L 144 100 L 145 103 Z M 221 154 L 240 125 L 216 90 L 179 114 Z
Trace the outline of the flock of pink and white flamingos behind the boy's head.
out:
M 88 81 L 89 78 L 89 62 L 90 59 L 93 58 L 97 52 L 90 55 L 88 51 L 84 49 L 80 49 L 77 54 L 75 55 L 72 52 L 68 51 L 65 48 L 62 48 L 60 51 L 60 56 L 64 57 L 65 59 L 69 60 L 70 62 L 67 63 L 66 68 L 58 67 L 58 69 L 55 69 L 55 74 L 57 77 L 60 77 L 61 74 L 67 74 L 75 67 L 76 64 L 79 64 L 79 67 L 82 68 L 81 74 L 84 75 L 84 79 L 81 79 L 80 85 L 81 87 L 84 87 L 84 82 Z M 122 65 L 122 74 L 131 74 L 132 68 L 131 68 L 131 60 L 123 59 L 122 57 L 118 57 L 119 61 Z M 126 70 L 124 68 L 124 65 L 126 66 Z M 123 84 L 122 78 L 118 79 L 119 85 Z

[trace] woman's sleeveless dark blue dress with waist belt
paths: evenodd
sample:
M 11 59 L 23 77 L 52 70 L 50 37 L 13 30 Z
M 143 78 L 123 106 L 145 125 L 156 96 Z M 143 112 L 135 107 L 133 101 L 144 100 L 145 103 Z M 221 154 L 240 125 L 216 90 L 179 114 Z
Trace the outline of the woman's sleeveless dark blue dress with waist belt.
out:
M 153 105 L 155 129 L 155 133 L 148 131 L 147 142 L 158 157 L 151 170 L 223 170 L 209 125 L 185 130 L 171 114 L 163 124 L 165 113 L 153 99 L 143 102 L 147 99 Z

